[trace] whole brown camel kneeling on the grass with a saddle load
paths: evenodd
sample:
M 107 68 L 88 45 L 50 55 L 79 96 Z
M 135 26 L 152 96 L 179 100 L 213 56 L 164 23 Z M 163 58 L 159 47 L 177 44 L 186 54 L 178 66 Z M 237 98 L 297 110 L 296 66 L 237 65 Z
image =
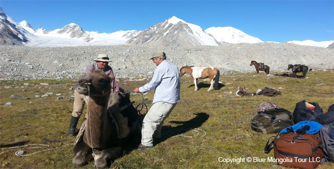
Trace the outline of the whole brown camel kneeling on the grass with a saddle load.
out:
M 111 160 L 119 157 L 120 143 L 132 130 L 129 126 L 136 126 L 130 124 L 130 118 L 124 113 L 131 111 L 136 116 L 136 109 L 133 106 L 130 108 L 131 103 L 121 106 L 124 104 L 122 101 L 127 99 L 123 99 L 118 92 L 111 91 L 110 83 L 114 80 L 102 71 L 96 70 L 79 80 L 75 88 L 80 94 L 85 95 L 87 114 L 73 148 L 74 166 L 83 166 L 94 158 L 94 164 L 98 169 L 108 167 Z M 127 102 L 129 101 L 130 96 Z

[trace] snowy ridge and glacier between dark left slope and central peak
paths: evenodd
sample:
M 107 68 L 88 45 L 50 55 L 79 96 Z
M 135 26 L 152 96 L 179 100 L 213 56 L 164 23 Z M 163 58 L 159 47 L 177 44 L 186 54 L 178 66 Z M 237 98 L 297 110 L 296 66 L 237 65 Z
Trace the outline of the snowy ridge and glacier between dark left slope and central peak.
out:
M 114 33 L 89 32 L 82 30 L 75 23 L 50 31 L 43 28 L 35 30 L 26 21 L 20 22 L 20 25 L 36 36 L 35 38 L 30 38 L 25 45 L 40 47 L 123 45 L 140 32 L 136 30 L 117 31 Z

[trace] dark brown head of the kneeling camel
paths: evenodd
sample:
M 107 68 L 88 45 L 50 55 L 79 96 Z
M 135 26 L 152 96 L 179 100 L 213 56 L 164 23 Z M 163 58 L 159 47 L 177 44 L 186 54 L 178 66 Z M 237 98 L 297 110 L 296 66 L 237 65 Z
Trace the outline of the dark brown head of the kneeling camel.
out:
M 79 80 L 75 90 L 80 94 L 89 96 L 104 96 L 111 90 L 110 83 L 115 80 L 103 73 L 101 70 L 95 70 L 89 76 Z

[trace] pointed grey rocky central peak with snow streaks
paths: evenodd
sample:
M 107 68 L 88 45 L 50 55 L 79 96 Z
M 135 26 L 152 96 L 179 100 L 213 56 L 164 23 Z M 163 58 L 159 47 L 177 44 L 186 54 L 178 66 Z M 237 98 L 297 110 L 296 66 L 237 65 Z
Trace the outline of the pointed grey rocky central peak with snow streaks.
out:
M 219 43 L 201 27 L 187 23 L 175 16 L 143 30 L 125 44 L 153 46 L 218 46 Z

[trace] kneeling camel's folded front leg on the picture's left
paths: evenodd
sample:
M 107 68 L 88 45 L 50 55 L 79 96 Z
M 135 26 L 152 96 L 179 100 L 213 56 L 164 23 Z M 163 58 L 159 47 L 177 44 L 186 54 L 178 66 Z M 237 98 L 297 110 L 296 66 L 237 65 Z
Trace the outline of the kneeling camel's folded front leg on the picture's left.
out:
M 73 153 L 75 155 L 72 160 L 74 166 L 83 166 L 88 160 L 93 158 L 92 148 L 83 141 L 74 146 Z

